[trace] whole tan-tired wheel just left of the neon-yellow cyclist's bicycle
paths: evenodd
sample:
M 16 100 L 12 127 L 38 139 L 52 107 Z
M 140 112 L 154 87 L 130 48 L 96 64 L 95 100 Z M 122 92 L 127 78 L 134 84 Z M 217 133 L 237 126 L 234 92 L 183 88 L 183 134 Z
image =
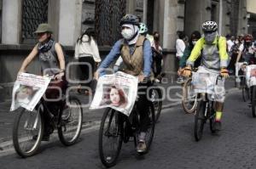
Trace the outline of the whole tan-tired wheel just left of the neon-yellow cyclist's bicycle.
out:
M 197 104 L 196 95 L 194 93 L 194 89 L 192 86 L 192 78 L 189 78 L 183 85 L 183 99 L 182 99 L 182 105 L 183 110 L 186 113 L 194 113 L 195 107 Z

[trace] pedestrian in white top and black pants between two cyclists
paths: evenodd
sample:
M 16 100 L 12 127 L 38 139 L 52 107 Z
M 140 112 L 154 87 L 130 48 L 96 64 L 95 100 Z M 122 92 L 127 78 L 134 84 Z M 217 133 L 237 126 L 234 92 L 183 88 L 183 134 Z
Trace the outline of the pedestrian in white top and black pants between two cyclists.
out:
M 81 82 L 78 92 L 82 93 L 84 87 L 92 88 L 94 91 L 94 84 L 92 83 L 93 75 L 96 67 L 102 61 L 99 49 L 95 40 L 95 31 L 93 28 L 88 28 L 84 33 L 78 38 L 75 46 L 75 59 L 79 60 L 79 68 L 81 70 L 80 81 Z M 90 95 L 91 90 L 84 89 L 85 95 Z

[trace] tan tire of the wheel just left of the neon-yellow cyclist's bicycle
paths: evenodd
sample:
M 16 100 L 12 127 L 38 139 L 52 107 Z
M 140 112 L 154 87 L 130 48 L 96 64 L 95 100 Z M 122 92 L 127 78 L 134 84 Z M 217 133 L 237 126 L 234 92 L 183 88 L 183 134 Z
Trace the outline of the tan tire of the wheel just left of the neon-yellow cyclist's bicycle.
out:
M 195 96 L 195 100 L 190 102 L 188 97 L 189 97 L 189 86 L 191 86 L 192 78 L 189 78 L 186 82 L 183 84 L 183 99 L 182 99 L 182 105 L 183 105 L 183 110 L 188 113 L 192 114 L 195 112 L 196 104 L 197 104 L 197 98 Z M 192 103 L 192 104 L 191 104 Z M 189 104 L 192 106 L 189 108 Z

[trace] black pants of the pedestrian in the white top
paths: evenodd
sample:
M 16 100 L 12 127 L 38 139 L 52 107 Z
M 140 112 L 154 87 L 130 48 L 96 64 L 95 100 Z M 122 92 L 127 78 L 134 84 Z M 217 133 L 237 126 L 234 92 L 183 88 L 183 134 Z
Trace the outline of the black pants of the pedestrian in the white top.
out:
M 84 87 L 90 87 L 92 90 L 94 90 L 94 86 L 92 83 L 94 72 L 96 70 L 96 63 L 93 59 L 93 57 L 81 57 L 79 58 L 79 65 L 81 74 L 80 74 L 80 80 L 86 81 L 81 83 L 81 86 Z

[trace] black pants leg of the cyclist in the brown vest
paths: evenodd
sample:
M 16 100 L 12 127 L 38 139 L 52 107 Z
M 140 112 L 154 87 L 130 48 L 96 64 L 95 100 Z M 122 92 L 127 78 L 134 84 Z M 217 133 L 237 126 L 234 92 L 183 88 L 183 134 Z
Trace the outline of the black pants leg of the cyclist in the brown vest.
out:
M 137 110 L 140 114 L 140 129 L 141 132 L 147 132 L 148 124 L 150 122 L 148 111 L 149 111 L 149 100 L 147 99 L 147 88 L 151 86 L 151 83 L 139 83 L 138 84 L 138 96 Z M 149 94 L 148 94 L 149 96 Z

